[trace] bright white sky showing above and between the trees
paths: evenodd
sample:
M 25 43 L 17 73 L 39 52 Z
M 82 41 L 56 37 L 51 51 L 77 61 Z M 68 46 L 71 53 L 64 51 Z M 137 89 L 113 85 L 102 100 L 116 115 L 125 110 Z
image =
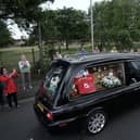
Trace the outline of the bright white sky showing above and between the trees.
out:
M 100 1 L 103 1 L 103 0 L 92 0 L 92 3 L 100 2 Z M 89 5 L 90 5 L 90 0 L 54 0 L 53 3 L 42 4 L 42 8 L 56 10 L 56 9 L 63 9 L 64 7 L 66 7 L 66 8 L 74 8 L 77 10 L 88 11 Z M 9 21 L 8 24 L 10 24 L 11 22 L 13 21 Z M 14 39 L 21 39 L 22 37 L 28 38 L 28 35 L 26 34 L 26 31 L 24 29 L 20 30 L 16 24 L 9 25 L 8 28 L 10 29 L 12 34 L 12 38 Z

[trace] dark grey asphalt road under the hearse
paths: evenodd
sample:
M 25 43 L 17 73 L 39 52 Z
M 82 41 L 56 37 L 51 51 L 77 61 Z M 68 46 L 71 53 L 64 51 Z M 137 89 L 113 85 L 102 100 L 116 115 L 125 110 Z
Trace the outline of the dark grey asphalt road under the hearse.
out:
M 0 111 L 0 140 L 140 140 L 140 103 L 113 115 L 105 129 L 96 136 L 71 126 L 50 135 L 33 111 L 33 99 L 21 102 L 20 109 Z

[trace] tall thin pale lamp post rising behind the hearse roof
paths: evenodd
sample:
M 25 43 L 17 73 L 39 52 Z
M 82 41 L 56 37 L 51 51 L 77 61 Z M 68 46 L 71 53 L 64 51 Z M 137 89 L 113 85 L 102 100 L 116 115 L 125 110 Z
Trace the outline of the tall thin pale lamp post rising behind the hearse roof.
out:
M 94 50 L 93 47 L 93 9 L 92 9 L 92 0 L 90 0 L 90 17 L 91 17 L 91 47 L 92 51 Z

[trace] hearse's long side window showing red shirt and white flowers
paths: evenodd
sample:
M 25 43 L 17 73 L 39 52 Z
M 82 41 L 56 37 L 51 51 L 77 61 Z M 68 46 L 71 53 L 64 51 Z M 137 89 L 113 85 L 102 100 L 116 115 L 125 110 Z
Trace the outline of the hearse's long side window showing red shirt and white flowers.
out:
M 79 69 L 74 76 L 71 99 L 125 85 L 124 64 L 104 64 Z

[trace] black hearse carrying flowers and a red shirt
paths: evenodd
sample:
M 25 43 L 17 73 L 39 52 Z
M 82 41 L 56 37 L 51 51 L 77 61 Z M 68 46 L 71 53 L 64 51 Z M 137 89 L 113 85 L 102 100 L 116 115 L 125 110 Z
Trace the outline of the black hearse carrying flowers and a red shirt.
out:
M 48 128 L 82 118 L 100 132 L 115 104 L 140 93 L 140 54 L 74 55 L 52 63 L 35 98 L 35 113 Z

